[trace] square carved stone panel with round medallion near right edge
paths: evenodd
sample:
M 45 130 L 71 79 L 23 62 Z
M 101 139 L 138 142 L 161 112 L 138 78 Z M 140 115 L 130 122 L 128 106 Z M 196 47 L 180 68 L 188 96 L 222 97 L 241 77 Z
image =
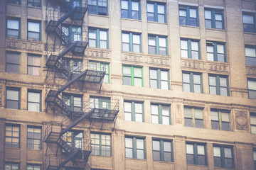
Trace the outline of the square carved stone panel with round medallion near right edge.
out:
M 235 111 L 235 123 L 238 130 L 249 130 L 246 111 Z

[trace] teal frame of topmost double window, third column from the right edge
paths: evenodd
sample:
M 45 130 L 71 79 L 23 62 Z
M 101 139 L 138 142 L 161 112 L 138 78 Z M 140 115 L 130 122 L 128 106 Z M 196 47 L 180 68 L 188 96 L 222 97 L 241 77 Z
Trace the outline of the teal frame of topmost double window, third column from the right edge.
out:
M 199 26 L 198 6 L 183 6 L 183 5 L 179 5 L 178 6 L 178 20 L 179 20 L 179 25 L 180 26 L 191 26 L 190 18 L 193 18 L 190 15 L 190 10 L 191 9 L 195 9 L 196 10 L 196 27 Z M 181 24 L 181 17 L 184 17 L 184 16 L 181 16 L 180 11 L 186 11 L 186 17 L 185 17 L 186 23 L 185 24 Z

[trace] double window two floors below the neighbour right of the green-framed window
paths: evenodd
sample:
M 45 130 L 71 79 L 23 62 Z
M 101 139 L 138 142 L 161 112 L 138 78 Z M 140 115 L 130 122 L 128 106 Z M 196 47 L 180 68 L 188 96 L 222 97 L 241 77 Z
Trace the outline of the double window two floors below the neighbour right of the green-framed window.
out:
M 173 162 L 171 141 L 153 139 L 152 145 L 154 161 Z

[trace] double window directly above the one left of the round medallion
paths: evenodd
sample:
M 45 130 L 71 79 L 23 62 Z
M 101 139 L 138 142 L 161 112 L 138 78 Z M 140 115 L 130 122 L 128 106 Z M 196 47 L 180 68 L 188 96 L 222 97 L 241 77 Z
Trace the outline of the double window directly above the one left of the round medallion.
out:
M 229 96 L 228 77 L 209 75 L 210 94 Z

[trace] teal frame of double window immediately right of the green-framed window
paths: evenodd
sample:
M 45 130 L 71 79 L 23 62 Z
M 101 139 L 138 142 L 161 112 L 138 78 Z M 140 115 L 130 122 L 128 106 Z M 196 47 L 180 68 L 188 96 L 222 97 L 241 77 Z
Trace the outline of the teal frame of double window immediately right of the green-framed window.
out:
M 156 79 L 151 78 L 151 70 L 155 70 L 156 71 Z M 166 80 L 162 80 L 161 79 L 161 72 L 167 72 L 167 89 L 164 90 L 170 90 L 170 72 L 169 69 L 159 69 L 159 68 L 153 68 L 153 67 L 149 67 L 149 87 L 152 89 L 162 89 L 161 87 L 161 82 L 162 81 L 166 81 Z M 151 81 L 156 81 L 157 87 L 151 87 Z

